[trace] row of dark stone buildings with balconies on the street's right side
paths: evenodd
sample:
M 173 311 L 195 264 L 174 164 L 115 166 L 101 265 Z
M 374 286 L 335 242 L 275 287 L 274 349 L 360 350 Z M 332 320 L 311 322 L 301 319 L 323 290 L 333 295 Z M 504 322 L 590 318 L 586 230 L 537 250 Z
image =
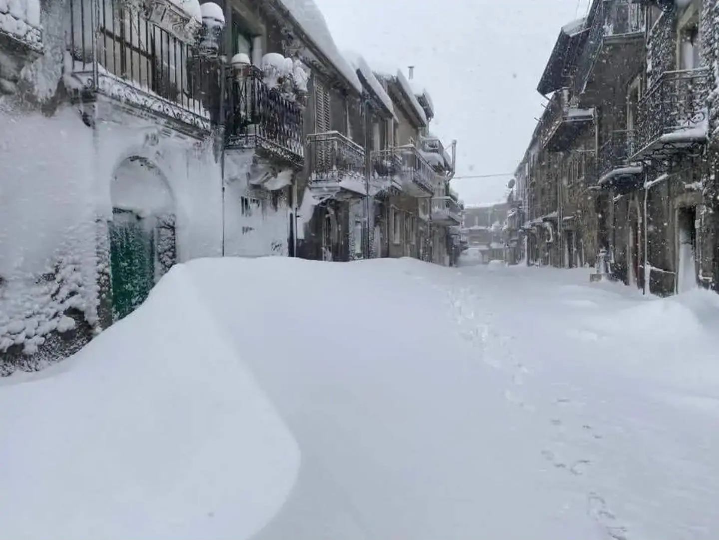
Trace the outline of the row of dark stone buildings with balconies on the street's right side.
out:
M 538 87 L 549 106 L 518 167 L 529 263 L 601 259 L 661 295 L 717 287 L 717 9 L 597 0 L 562 28 Z

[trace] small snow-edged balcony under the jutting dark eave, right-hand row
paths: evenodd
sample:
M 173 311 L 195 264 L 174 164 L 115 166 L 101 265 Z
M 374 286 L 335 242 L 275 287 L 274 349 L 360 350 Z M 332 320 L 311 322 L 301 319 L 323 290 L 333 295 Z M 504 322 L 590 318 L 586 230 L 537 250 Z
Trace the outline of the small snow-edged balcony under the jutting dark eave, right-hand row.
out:
M 574 139 L 594 121 L 594 109 L 579 109 L 569 104 L 569 89 L 554 92 L 542 115 L 546 132 L 542 145 L 550 152 L 569 150 Z

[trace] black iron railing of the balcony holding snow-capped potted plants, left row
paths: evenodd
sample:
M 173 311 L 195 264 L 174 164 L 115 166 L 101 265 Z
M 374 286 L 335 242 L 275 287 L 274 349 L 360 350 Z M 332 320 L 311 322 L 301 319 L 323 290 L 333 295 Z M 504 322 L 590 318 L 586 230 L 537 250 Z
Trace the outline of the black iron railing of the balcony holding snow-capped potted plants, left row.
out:
M 230 109 L 226 123 L 229 147 L 262 147 L 292 163 L 304 162 L 301 106 L 270 88 L 262 70 L 248 66 L 230 82 Z

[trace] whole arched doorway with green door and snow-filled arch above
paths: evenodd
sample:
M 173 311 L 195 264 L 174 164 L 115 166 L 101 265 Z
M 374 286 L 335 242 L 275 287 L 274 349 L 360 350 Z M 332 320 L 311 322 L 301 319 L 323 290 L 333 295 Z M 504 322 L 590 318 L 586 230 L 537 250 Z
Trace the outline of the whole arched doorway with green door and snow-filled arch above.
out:
M 112 312 L 117 321 L 144 302 L 175 264 L 175 203 L 165 176 L 142 157 L 129 157 L 118 166 L 110 196 Z

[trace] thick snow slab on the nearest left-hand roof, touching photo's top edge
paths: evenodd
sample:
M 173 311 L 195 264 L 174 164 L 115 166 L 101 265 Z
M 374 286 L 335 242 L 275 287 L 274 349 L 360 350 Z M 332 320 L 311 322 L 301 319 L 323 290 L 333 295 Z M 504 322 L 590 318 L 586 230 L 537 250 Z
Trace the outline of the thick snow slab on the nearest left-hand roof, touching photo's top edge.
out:
M 324 15 L 314 0 L 278 0 L 295 19 L 307 37 L 319 51 L 325 55 L 339 73 L 347 79 L 352 87 L 362 93 L 362 83 L 357 72 L 352 69 L 347 59 L 340 54 L 329 31 Z

